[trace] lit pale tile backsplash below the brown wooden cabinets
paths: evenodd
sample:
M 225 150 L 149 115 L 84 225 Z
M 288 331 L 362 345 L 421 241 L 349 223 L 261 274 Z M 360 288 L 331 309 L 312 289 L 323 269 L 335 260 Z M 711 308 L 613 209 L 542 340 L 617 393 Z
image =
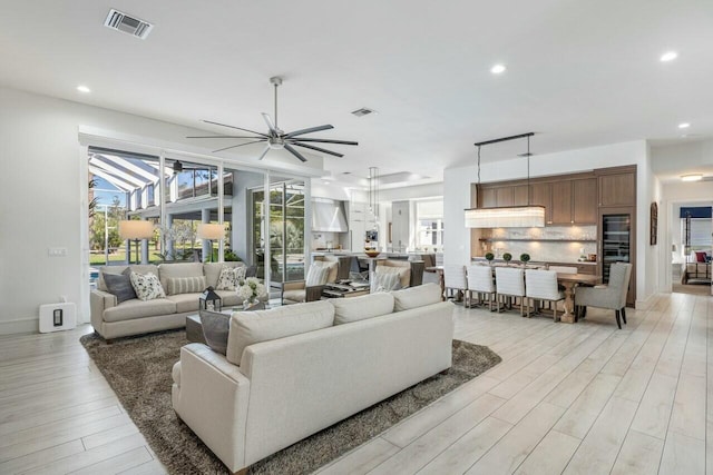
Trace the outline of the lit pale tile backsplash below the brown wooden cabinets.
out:
M 478 254 L 482 256 L 490 251 L 496 258 L 510 253 L 518 259 L 520 254 L 527 253 L 534 261 L 576 263 L 583 254 L 597 253 L 596 226 L 484 229 L 481 238 L 490 241 L 481 241 Z

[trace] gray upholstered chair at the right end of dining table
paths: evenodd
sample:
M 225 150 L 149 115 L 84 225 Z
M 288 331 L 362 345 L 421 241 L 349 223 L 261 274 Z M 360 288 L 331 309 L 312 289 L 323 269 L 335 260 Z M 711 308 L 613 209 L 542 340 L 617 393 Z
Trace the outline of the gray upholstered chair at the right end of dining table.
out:
M 586 313 L 586 307 L 608 308 L 615 311 L 616 325 L 622 328 L 622 320 L 626 325 L 626 294 L 632 278 L 632 265 L 614 263 L 609 268 L 609 283 L 598 287 L 577 287 L 575 305 Z M 583 315 L 584 316 L 584 315 Z

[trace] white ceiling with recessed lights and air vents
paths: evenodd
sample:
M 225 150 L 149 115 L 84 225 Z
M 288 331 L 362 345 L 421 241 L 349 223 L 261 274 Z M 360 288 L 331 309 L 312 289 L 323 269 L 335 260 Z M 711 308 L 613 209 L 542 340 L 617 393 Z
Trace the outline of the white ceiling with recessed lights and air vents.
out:
M 105 28 L 110 8 L 155 28 Z M 536 154 L 713 136 L 712 24 L 711 0 L 2 0 L 0 83 L 225 132 L 201 119 L 264 130 L 282 76 L 281 128 L 332 123 L 314 137 L 360 142 L 333 147 L 332 176 L 438 180 L 473 162 L 475 141 L 527 131 Z

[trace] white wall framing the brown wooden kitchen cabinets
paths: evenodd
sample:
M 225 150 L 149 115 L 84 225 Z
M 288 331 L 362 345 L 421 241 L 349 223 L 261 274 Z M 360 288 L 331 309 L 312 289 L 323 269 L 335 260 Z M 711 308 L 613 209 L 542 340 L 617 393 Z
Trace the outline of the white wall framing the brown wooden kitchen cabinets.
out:
M 475 154 L 473 154 L 475 156 Z M 656 196 L 657 180 L 651 171 L 647 144 L 643 140 L 537 155 L 530 159 L 530 177 L 573 174 L 595 168 L 637 166 L 637 303 L 647 300 L 656 291 L 655 279 L 647 279 L 647 268 L 656 267 L 657 256 L 648 249 L 648 209 Z M 480 167 L 481 182 L 522 179 L 527 177 L 527 160 L 514 158 L 487 162 Z M 470 186 L 477 181 L 478 171 L 472 166 L 449 168 L 443 172 L 443 222 L 446 265 L 470 260 L 470 229 L 463 225 L 463 209 L 470 208 Z

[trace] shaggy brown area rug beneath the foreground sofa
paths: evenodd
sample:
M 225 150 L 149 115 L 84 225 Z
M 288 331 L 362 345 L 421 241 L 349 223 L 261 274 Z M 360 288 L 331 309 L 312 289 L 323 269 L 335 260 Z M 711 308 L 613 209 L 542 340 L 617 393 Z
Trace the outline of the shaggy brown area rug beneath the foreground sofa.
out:
M 170 405 L 170 369 L 186 345 L 184 330 L 115 339 L 80 339 L 127 413 L 172 474 L 227 474 Z M 453 340 L 453 366 L 389 399 L 252 465 L 250 474 L 307 474 L 375 437 L 500 363 L 485 346 Z

